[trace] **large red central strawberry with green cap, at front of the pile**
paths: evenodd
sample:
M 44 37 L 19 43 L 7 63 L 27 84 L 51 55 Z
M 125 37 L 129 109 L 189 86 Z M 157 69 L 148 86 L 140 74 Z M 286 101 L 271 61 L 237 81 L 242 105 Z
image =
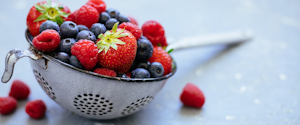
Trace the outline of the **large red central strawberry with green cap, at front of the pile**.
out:
M 111 31 L 98 36 L 98 64 L 116 72 L 126 73 L 134 61 L 137 43 L 129 31 L 117 27 L 118 23 L 115 23 Z

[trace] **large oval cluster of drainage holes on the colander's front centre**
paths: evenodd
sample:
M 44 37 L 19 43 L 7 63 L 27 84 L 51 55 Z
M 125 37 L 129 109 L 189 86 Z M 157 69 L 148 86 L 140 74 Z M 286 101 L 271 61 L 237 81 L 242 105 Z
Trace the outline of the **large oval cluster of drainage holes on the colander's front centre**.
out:
M 113 103 L 99 94 L 77 95 L 74 97 L 73 105 L 76 110 L 87 115 L 106 115 L 113 109 Z

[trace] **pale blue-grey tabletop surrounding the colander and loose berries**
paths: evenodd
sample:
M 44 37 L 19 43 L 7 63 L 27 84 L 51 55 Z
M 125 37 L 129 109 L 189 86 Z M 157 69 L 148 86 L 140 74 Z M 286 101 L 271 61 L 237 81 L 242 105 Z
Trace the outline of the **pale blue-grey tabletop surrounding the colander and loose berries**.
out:
M 13 48 L 27 49 L 26 16 L 39 0 L 6 0 L 0 4 L 0 72 Z M 71 11 L 86 1 L 60 0 Z M 207 46 L 174 51 L 178 64 L 154 100 L 141 111 L 113 120 L 91 120 L 73 115 L 51 100 L 38 85 L 29 59 L 17 62 L 12 80 L 21 79 L 31 89 L 28 100 L 43 99 L 46 116 L 31 119 L 28 100 L 17 110 L 0 116 L 1 125 L 299 125 L 300 124 L 300 1 L 299 0 L 106 0 L 135 17 L 139 25 L 157 20 L 170 43 L 198 35 L 249 28 L 253 40 L 234 47 Z M 2 75 L 2 74 L 1 74 Z M 7 96 L 11 82 L 0 84 Z M 204 92 L 202 109 L 185 107 L 179 100 L 191 82 Z

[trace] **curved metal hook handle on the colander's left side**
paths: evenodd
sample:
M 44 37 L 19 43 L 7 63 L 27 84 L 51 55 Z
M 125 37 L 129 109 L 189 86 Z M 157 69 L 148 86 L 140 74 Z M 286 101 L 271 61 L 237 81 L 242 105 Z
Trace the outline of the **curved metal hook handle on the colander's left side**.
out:
M 5 71 L 1 79 L 2 83 L 7 83 L 11 79 L 15 63 L 22 57 L 29 57 L 33 60 L 42 58 L 42 56 L 37 54 L 32 48 L 27 50 L 13 49 L 9 51 L 5 58 Z

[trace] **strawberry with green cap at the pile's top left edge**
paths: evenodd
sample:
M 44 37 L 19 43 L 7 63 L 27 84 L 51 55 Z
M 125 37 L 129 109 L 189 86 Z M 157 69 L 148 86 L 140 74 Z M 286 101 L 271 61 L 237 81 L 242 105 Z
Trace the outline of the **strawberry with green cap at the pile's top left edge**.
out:
M 36 36 L 39 34 L 40 25 L 43 22 L 52 20 L 60 25 L 70 13 L 67 6 L 58 2 L 51 2 L 51 0 L 39 2 L 29 10 L 26 22 L 27 28 L 32 36 Z

